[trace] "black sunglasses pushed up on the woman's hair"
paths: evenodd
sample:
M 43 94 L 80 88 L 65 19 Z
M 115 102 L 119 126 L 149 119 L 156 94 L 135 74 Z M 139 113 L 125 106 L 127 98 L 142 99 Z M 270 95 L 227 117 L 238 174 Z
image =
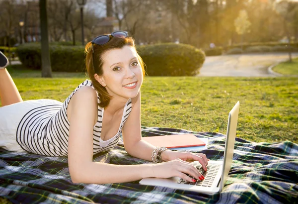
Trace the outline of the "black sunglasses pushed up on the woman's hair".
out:
M 110 41 L 110 39 L 111 39 L 110 36 L 127 38 L 128 37 L 128 32 L 127 31 L 118 30 L 118 31 L 114 31 L 114 32 L 112 32 L 111 34 L 108 34 L 108 35 L 99 35 L 99 36 L 97 36 L 96 38 L 94 38 L 91 41 L 91 44 L 92 44 L 92 63 L 93 63 L 94 72 L 95 72 L 95 66 L 94 66 L 94 44 L 96 44 L 96 45 L 104 45 L 104 44 L 106 44 L 107 42 Z

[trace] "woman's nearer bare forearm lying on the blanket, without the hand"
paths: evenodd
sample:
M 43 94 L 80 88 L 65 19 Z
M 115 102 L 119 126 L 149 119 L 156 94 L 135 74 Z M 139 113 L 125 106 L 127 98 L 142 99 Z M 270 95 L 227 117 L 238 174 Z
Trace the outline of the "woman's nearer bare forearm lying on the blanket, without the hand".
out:
M 153 164 L 114 165 L 101 162 L 88 162 L 84 167 L 72 172 L 74 183 L 108 184 L 125 183 L 152 177 Z

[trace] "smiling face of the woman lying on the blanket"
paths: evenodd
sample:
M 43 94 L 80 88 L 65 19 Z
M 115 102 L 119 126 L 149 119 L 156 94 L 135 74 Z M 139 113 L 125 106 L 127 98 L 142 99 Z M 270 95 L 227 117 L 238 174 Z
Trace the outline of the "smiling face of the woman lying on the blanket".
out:
M 103 74 L 95 79 L 112 97 L 126 100 L 138 95 L 143 83 L 143 71 L 135 48 L 124 46 L 103 55 Z

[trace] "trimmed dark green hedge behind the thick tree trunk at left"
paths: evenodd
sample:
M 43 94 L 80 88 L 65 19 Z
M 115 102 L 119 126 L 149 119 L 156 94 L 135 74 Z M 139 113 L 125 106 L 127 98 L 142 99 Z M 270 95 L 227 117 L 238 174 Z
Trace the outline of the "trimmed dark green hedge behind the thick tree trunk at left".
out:
M 16 53 L 23 66 L 41 69 L 41 46 L 27 43 L 18 46 Z M 84 69 L 84 48 L 82 46 L 50 45 L 52 71 L 81 72 Z

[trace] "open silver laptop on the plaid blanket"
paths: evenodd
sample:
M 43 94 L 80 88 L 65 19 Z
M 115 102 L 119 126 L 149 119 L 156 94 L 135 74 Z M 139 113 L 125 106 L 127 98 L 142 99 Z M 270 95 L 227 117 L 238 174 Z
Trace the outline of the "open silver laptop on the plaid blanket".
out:
M 233 161 L 239 105 L 240 103 L 237 102 L 228 114 L 224 160 L 210 160 L 208 162 L 207 171 L 202 169 L 202 166 L 198 161 L 192 162 L 192 164 L 205 177 L 203 181 L 190 183 L 179 177 L 171 177 L 168 179 L 144 178 L 140 181 L 140 184 L 162 186 L 185 191 L 195 191 L 211 195 L 221 192 L 224 188 L 224 184 Z

